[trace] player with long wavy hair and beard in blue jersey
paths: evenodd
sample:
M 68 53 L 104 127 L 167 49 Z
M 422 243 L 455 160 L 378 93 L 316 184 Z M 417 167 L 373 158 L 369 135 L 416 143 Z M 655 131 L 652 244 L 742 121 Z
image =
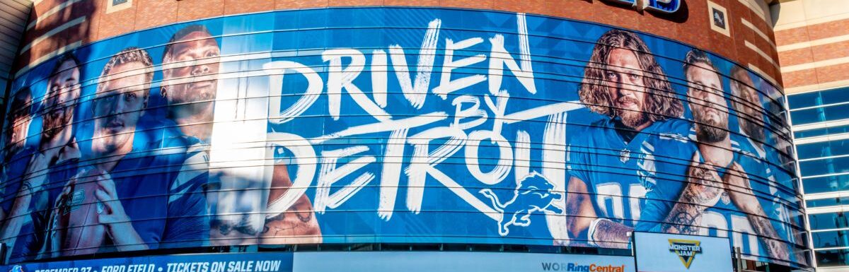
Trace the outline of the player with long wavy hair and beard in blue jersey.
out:
M 606 118 L 573 132 L 569 144 L 569 242 L 628 247 L 645 193 L 637 178 L 640 144 L 647 134 L 686 130 L 685 122 L 672 121 L 683 115 L 683 105 L 649 47 L 621 30 L 599 38 L 579 95 Z

